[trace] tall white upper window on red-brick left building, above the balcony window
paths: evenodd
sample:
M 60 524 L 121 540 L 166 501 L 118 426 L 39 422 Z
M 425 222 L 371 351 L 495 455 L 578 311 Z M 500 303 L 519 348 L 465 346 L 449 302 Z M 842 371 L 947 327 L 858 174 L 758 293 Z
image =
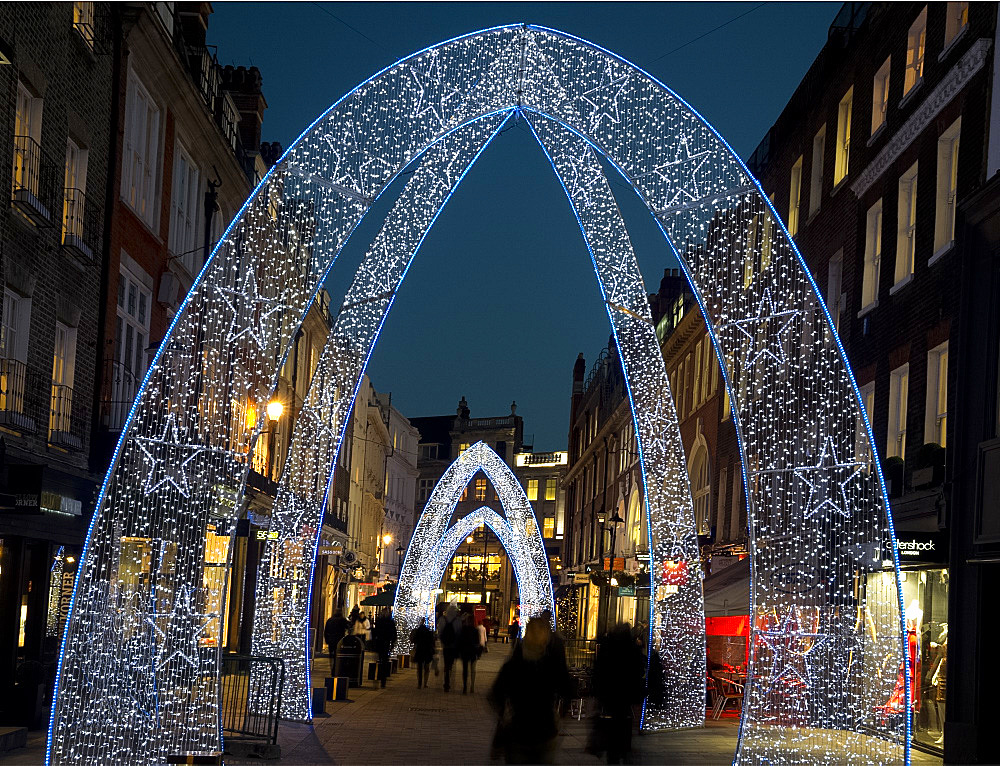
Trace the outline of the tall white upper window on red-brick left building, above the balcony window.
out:
M 135 72 L 129 70 L 125 99 L 122 198 L 151 228 L 157 220 L 160 110 Z

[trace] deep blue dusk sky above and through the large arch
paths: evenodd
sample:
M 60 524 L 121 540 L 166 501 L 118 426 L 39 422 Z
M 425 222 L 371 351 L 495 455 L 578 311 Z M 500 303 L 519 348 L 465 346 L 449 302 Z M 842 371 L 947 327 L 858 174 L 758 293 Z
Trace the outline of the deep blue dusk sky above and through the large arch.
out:
M 388 64 L 456 35 L 523 21 L 591 40 L 642 66 L 746 158 L 823 46 L 839 4 L 215 2 L 214 8 L 208 42 L 218 46 L 221 64 L 260 68 L 269 106 L 264 138 L 285 147 Z M 675 264 L 632 192 L 620 179 L 614 190 L 646 288 L 655 291 L 663 269 Z M 328 284 L 335 301 L 349 282 L 347 268 L 377 231 L 374 218 L 334 268 Z M 442 212 L 368 372 L 410 417 L 453 413 L 463 395 L 473 417 L 504 415 L 516 399 L 535 448 L 565 449 L 576 355 L 582 351 L 589 365 L 609 332 L 569 204 L 534 139 L 516 128 L 483 153 Z

